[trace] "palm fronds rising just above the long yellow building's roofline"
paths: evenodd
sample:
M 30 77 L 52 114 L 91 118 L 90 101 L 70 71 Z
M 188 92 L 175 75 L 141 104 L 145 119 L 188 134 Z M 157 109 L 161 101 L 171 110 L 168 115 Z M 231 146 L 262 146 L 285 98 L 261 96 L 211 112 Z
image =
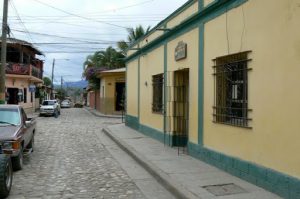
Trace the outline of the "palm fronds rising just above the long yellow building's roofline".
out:
M 118 42 L 118 48 L 123 53 L 125 53 L 126 49 L 131 44 L 133 44 L 135 41 L 137 41 L 145 34 L 147 34 L 150 31 L 150 26 L 144 29 L 142 25 L 138 25 L 136 28 L 128 28 L 127 31 L 128 31 L 127 42 L 124 40 Z

